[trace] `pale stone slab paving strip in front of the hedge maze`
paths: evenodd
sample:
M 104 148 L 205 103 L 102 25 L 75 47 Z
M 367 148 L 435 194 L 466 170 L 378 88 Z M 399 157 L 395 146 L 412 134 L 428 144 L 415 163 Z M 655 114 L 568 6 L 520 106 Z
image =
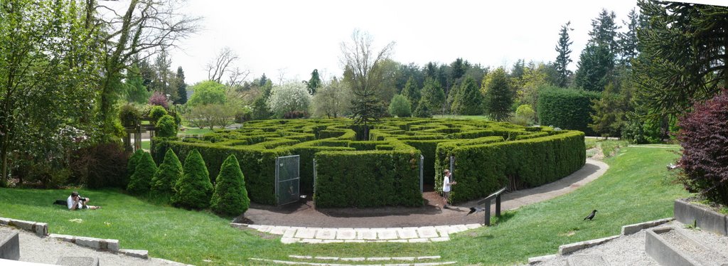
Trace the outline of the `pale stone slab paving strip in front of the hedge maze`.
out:
M 282 243 L 440 242 L 450 240 L 450 234 L 482 226 L 481 224 L 456 224 L 431 227 L 321 228 L 236 223 L 230 225 L 282 235 Z

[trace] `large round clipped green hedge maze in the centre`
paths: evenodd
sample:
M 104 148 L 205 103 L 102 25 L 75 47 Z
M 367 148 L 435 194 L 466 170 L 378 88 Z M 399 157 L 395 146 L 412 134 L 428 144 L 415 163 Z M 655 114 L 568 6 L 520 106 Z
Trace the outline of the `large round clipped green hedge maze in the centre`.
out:
M 369 141 L 361 141 L 363 132 L 345 119 L 261 120 L 202 138 L 154 138 L 152 153 L 161 162 L 167 149 L 180 157 L 197 149 L 210 177 L 218 176 L 223 160 L 235 154 L 250 200 L 269 205 L 276 201 L 276 157 L 298 154 L 301 193 L 310 195 L 315 186 L 314 202 L 320 208 L 422 206 L 421 154 L 424 182 L 436 190 L 450 157 L 455 157 L 455 203 L 485 197 L 504 186 L 537 187 L 568 176 L 586 160 L 581 131 L 413 118 L 382 120 L 369 131 Z

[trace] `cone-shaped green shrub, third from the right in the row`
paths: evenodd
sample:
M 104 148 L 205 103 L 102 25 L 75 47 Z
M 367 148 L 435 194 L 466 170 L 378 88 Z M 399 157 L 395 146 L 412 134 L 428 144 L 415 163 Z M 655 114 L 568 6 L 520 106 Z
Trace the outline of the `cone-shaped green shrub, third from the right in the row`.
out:
M 177 154 L 168 149 L 165 154 L 165 161 L 159 165 L 157 173 L 151 179 L 151 193 L 165 200 L 175 194 L 175 184 L 182 178 L 182 163 Z

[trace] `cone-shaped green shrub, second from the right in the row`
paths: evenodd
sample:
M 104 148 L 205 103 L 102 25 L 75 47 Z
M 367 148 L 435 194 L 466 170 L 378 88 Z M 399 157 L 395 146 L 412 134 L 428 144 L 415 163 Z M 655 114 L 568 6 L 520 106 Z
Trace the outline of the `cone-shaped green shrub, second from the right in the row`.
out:
M 175 183 L 174 206 L 185 208 L 207 208 L 213 196 L 213 184 L 207 172 L 205 161 L 197 149 L 192 150 L 184 160 L 183 175 Z

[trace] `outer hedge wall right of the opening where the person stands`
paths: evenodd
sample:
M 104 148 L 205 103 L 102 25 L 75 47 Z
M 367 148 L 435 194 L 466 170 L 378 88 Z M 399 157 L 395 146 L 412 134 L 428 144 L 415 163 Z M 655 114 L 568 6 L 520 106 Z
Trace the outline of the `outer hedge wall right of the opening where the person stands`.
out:
M 438 146 L 435 173 L 449 168 L 455 156 L 454 203 L 486 197 L 502 187 L 537 187 L 568 176 L 586 163 L 584 133 L 566 131 L 551 136 L 491 144 Z M 435 177 L 441 189 L 443 176 Z M 466 184 L 466 185 L 463 185 Z

